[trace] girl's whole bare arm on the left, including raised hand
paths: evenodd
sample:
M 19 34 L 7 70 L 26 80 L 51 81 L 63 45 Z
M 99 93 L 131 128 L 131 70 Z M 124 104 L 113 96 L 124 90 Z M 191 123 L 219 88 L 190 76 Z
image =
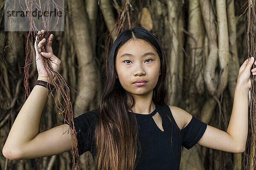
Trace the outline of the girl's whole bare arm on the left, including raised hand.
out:
M 44 30 L 38 31 L 38 34 L 44 33 Z M 47 44 L 47 53 L 44 57 L 52 60 L 52 67 L 59 70 L 61 61 L 52 54 L 53 35 L 49 37 Z M 41 52 L 42 45 L 46 40 L 38 43 L 38 51 Z M 35 49 L 36 43 L 35 43 Z M 38 69 L 38 80 L 47 80 L 47 72 L 44 69 L 41 57 L 36 51 L 36 65 Z M 34 159 L 45 156 L 57 155 L 72 149 L 72 138 L 69 125 L 64 124 L 53 127 L 42 133 L 39 131 L 39 123 L 45 103 L 47 102 L 47 93 L 50 90 L 40 85 L 35 85 L 26 102 L 20 109 L 15 122 L 9 132 L 6 142 L 3 146 L 3 155 L 12 160 L 16 159 Z M 66 133 L 65 133 L 66 132 Z

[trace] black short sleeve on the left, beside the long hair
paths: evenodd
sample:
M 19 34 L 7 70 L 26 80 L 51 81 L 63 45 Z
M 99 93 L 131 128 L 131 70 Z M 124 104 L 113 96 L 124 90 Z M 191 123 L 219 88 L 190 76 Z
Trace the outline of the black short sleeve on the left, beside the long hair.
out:
M 94 112 L 83 113 L 76 118 L 73 118 L 74 126 L 76 129 L 78 155 L 90 151 L 93 147 L 93 136 L 95 129 Z M 68 122 L 65 122 L 68 124 Z M 73 125 L 71 125 L 73 128 Z

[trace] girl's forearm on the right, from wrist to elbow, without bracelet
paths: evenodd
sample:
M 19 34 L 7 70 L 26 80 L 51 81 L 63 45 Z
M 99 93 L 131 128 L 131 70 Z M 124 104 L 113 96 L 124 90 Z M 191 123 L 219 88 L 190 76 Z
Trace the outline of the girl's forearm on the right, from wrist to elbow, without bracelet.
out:
M 241 148 L 245 148 L 248 132 L 248 91 L 249 89 L 236 85 L 232 114 L 227 127 L 227 133 Z

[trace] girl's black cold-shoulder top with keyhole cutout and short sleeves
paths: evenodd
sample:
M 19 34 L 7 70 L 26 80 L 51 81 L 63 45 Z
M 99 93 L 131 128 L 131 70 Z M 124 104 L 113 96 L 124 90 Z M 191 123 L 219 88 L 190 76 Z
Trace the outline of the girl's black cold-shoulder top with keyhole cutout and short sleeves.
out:
M 164 131 L 157 127 L 152 118 L 157 112 L 162 118 Z M 169 115 L 172 122 L 164 112 Z M 90 151 L 93 159 L 95 156 L 93 153 L 95 114 L 97 114 L 97 110 L 84 113 L 73 119 L 78 139 L 78 154 L 80 156 L 84 152 Z M 189 124 L 180 130 L 168 105 L 156 105 L 153 112 L 149 114 L 136 113 L 136 117 L 140 127 L 139 140 L 142 155 L 135 170 L 179 170 L 181 146 L 188 150 L 192 148 L 201 139 L 207 127 L 206 123 L 192 116 Z

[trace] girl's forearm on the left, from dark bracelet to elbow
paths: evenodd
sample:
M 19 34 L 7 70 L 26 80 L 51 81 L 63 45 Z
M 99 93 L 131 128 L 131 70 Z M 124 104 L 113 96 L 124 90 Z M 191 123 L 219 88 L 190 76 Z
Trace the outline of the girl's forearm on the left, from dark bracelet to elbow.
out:
M 46 81 L 46 79 L 38 79 Z M 50 93 L 49 89 L 35 85 L 20 109 L 4 147 L 18 149 L 38 134 L 41 114 L 48 98 L 47 93 Z

